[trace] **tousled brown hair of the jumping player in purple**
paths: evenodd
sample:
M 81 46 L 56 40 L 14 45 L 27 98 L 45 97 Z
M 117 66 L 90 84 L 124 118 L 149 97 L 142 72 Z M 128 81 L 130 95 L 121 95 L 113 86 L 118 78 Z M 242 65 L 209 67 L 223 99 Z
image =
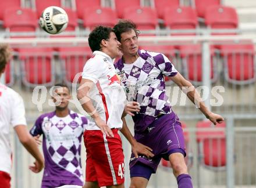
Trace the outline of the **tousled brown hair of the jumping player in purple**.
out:
M 113 30 L 116 34 L 116 38 L 118 38 L 118 41 L 121 41 L 121 34 L 123 32 L 127 32 L 130 30 L 134 30 L 136 33 L 136 36 L 140 35 L 140 31 L 137 30 L 137 25 L 130 20 L 119 20 L 119 22 L 113 27 Z

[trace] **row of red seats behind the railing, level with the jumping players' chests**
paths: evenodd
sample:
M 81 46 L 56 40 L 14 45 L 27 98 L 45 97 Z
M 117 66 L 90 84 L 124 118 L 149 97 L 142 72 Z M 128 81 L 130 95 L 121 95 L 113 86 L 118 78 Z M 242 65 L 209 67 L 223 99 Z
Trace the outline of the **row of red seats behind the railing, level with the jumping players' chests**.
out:
M 202 84 L 201 45 L 182 46 L 140 46 L 141 49 L 162 52 L 169 59 L 176 56 L 182 59 L 182 73 L 186 79 L 195 85 Z M 219 48 L 219 49 L 218 49 Z M 211 81 L 218 79 L 216 70 L 218 50 L 223 59 L 223 70 L 227 82 L 233 84 L 250 84 L 255 82 L 255 54 L 254 45 L 221 45 L 211 46 Z M 62 72 L 67 84 L 71 84 L 75 75 L 83 70 L 84 63 L 91 57 L 88 47 L 58 48 L 61 59 Z M 23 83 L 28 86 L 52 85 L 55 82 L 54 53 L 52 48 L 24 48 L 18 49 L 22 62 Z M 10 66 L 10 67 L 9 67 Z M 6 67 L 6 83 L 13 84 L 13 67 L 10 63 Z

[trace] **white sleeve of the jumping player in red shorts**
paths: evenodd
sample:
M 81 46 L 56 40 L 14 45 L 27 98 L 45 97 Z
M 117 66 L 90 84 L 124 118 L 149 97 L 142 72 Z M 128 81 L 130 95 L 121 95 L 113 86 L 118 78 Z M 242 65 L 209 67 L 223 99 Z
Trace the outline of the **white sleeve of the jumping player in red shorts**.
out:
M 94 84 L 96 84 L 99 77 L 101 77 L 103 65 L 104 64 L 102 64 L 101 60 L 99 60 L 99 59 L 88 60 L 86 62 L 86 64 L 84 65 L 82 78 L 90 79 L 91 81 L 94 82 Z

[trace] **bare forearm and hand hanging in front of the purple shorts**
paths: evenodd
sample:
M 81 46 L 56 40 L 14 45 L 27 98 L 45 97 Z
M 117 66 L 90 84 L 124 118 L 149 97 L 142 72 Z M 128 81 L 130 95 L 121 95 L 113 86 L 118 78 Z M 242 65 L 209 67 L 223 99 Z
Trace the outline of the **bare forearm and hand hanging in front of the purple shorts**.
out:
M 123 128 L 120 130 L 122 132 L 123 136 L 130 142 L 131 144 L 131 150 L 133 151 L 136 158 L 138 158 L 138 154 L 143 154 L 147 157 L 154 157 L 154 154 L 152 153 L 152 149 L 148 146 L 145 146 L 141 143 L 138 143 L 136 139 L 133 138 L 133 135 L 131 135 L 131 132 L 126 124 L 125 118 L 122 118 L 123 121 Z

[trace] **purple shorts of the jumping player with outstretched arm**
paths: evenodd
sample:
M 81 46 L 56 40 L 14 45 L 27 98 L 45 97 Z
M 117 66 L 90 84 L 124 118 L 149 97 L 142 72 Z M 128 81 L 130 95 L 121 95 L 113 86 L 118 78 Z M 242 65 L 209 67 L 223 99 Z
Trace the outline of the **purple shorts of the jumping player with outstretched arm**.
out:
M 155 173 L 161 158 L 169 161 L 169 156 L 172 153 L 179 152 L 186 157 L 182 125 L 174 112 L 157 118 L 144 132 L 135 133 L 134 138 L 137 142 L 150 147 L 155 156 L 152 158 L 147 158 L 145 156 L 135 158 L 132 153 L 130 159 L 131 177 L 140 176 L 137 172 L 141 171 L 141 169 L 144 169 L 143 171 L 151 171 L 151 173 Z M 138 165 L 140 165 L 140 167 L 138 167 Z

